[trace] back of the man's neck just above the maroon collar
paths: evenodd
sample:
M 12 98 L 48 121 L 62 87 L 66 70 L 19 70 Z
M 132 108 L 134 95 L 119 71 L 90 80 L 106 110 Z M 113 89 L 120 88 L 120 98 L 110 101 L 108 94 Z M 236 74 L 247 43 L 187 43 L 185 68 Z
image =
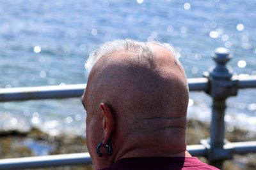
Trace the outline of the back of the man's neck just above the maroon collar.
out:
M 115 161 L 125 157 L 191 157 L 186 151 L 186 130 L 180 127 L 138 133 L 120 142 Z

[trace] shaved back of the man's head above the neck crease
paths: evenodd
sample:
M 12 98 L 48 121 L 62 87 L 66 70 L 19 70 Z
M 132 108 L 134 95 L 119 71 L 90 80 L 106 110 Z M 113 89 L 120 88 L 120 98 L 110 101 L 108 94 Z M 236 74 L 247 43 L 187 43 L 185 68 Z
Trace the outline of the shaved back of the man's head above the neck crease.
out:
M 92 68 L 86 92 L 92 106 L 106 102 L 125 120 L 185 116 L 188 104 L 182 66 L 173 53 L 154 43 L 102 56 Z

